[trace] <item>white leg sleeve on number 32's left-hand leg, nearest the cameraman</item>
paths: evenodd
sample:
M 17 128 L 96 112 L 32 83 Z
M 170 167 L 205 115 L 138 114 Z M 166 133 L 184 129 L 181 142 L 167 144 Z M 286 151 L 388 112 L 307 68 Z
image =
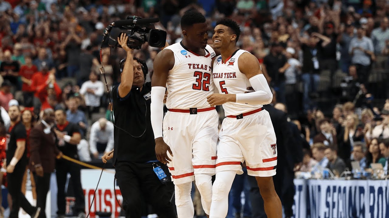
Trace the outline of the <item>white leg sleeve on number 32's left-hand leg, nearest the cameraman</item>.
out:
M 195 208 L 191 197 L 192 182 L 178 184 L 175 188 L 175 206 L 178 218 L 193 218 Z

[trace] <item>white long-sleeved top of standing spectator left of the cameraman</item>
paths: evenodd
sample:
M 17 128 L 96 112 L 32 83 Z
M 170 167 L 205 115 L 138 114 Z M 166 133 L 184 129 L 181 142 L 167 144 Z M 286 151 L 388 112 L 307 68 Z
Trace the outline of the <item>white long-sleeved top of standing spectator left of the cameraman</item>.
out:
M 93 90 L 94 93 L 88 92 Z M 100 107 L 100 97 L 104 93 L 104 84 L 102 81 L 91 81 L 84 82 L 80 89 L 80 94 L 85 97 L 86 106 Z

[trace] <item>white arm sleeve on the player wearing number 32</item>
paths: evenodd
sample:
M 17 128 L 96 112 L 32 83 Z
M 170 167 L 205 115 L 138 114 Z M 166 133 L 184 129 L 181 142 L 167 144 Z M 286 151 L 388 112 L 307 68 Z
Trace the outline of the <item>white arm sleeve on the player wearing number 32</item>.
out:
M 163 98 L 165 97 L 165 87 L 151 87 L 151 126 L 154 138 L 162 137 L 163 122 Z

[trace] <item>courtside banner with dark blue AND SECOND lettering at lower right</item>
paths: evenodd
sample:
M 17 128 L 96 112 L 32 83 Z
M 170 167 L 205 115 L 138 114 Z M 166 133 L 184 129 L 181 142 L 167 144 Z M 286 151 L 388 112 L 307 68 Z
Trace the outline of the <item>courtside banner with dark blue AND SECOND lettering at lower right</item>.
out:
M 389 217 L 387 180 L 295 179 L 294 187 L 296 218 Z

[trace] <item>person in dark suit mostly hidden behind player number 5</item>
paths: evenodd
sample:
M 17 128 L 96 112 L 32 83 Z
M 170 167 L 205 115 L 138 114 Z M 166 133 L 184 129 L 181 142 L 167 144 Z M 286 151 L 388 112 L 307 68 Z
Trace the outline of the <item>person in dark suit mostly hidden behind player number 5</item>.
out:
M 274 95 L 273 95 L 274 99 Z M 277 170 L 276 175 L 273 176 L 274 188 L 277 195 L 280 197 L 281 202 L 283 196 L 284 175 L 286 171 L 293 171 L 294 165 L 289 163 L 291 156 L 289 146 L 293 145 L 293 139 L 291 137 L 291 131 L 288 128 L 287 115 L 285 112 L 275 109 L 272 105 L 267 104 L 263 106 L 263 109 L 269 112 L 270 119 L 273 123 L 275 135 L 277 137 Z M 250 183 L 250 199 L 252 205 L 252 218 L 266 218 L 265 209 L 263 208 L 263 199 L 259 194 L 258 184 L 252 176 L 249 176 Z

